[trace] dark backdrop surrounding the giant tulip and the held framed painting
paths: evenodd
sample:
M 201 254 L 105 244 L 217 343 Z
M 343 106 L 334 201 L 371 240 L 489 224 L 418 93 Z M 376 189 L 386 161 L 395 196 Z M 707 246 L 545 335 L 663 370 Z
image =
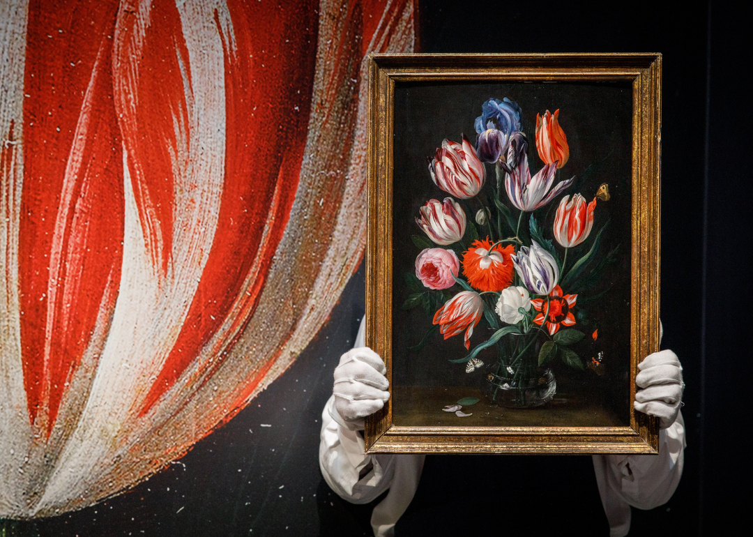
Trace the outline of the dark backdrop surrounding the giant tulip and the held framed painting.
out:
M 733 523 L 747 518 L 742 508 L 748 503 L 750 471 L 742 438 L 749 408 L 750 346 L 744 337 L 753 248 L 748 166 L 753 118 L 746 59 L 750 31 L 737 6 L 419 2 L 421 47 L 428 52 L 663 53 L 663 347 L 674 349 L 684 366 L 687 450 L 675 495 L 660 508 L 634 509 L 630 535 L 734 535 Z M 364 535 L 358 520 L 367 520 L 366 510 L 328 492 L 317 463 L 319 413 L 331 390 L 331 371 L 355 334 L 363 285 L 361 272 L 290 370 L 180 463 L 102 505 L 7 523 L 7 532 L 45 537 Z M 260 423 L 273 427 L 261 429 Z M 553 511 L 565 511 L 572 516 L 553 534 L 606 535 L 603 522 L 600 533 L 583 529 L 603 516 L 594 503 L 598 498 L 587 458 L 498 459 L 507 468 L 535 471 L 544 481 L 562 471 L 566 460 L 573 461 L 560 474 L 562 480 L 546 482 L 538 494 L 516 504 L 517 518 L 531 520 L 529 534 L 537 534 L 537 524 L 550 520 Z M 450 529 L 448 521 L 462 520 L 465 534 L 478 535 L 493 514 L 496 532 L 504 532 L 510 518 L 500 513 L 507 503 L 489 510 L 482 500 L 509 499 L 520 483 L 511 486 L 507 471 L 494 470 L 488 460 L 428 458 L 406 523 L 441 535 L 431 529 Z M 434 496 L 427 490 L 432 487 Z

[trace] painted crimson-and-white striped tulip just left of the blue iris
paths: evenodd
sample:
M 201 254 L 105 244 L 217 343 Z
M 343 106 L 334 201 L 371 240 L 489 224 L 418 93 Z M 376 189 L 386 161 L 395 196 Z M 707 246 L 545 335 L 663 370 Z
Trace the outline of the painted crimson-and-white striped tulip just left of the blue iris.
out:
M 486 179 L 483 163 L 465 135 L 460 144 L 445 139 L 434 159 L 428 161 L 428 172 L 434 185 L 461 200 L 478 194 Z

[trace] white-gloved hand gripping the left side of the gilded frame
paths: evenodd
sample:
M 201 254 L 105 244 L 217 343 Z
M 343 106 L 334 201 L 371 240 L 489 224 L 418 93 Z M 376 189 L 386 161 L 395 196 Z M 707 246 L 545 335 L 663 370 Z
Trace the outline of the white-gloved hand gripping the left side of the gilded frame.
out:
M 368 347 L 350 349 L 340 356 L 334 370 L 334 406 L 355 429 L 364 428 L 364 417 L 380 410 L 389 399 L 387 368 Z

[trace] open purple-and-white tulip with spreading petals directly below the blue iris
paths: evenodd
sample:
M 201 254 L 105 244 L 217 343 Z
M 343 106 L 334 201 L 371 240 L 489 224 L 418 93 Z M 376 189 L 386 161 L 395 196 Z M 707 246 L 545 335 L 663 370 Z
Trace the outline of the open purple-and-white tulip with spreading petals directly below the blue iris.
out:
M 505 190 L 511 203 L 521 211 L 532 212 L 546 205 L 575 179 L 569 178 L 552 188 L 556 163 L 547 164 L 531 177 L 528 155 L 523 153 L 522 157 L 514 169 L 505 173 Z

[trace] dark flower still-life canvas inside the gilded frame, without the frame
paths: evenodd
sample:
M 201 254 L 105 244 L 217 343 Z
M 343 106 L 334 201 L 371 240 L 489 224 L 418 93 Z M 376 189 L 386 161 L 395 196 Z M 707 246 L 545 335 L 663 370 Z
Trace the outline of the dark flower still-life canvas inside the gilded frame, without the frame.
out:
M 631 121 L 627 84 L 396 84 L 393 423 L 628 423 Z

